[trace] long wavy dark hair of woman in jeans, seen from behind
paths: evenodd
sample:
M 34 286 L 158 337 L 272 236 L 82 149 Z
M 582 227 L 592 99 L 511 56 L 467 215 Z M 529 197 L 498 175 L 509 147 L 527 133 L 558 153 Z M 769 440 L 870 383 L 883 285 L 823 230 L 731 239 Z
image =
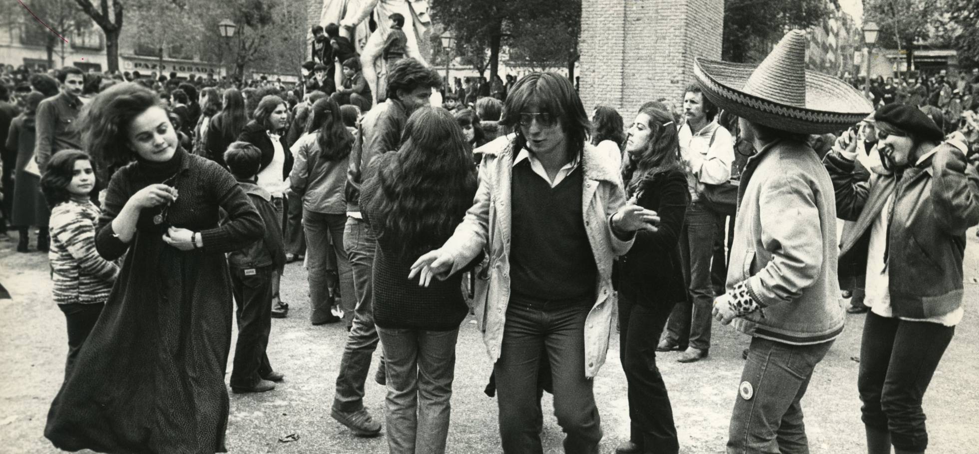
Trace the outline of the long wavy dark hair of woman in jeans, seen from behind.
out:
M 477 177 L 462 130 L 444 109 L 422 108 L 404 127 L 396 165 L 378 170 L 379 238 L 414 259 L 439 248 L 476 196 Z

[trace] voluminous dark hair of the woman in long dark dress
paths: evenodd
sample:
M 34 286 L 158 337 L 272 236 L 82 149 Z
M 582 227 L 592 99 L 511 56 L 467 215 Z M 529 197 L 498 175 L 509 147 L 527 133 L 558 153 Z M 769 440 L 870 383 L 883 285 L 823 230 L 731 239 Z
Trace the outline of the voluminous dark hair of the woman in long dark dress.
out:
M 126 128 L 129 121 L 154 107 L 160 107 L 156 93 L 142 85 L 125 82 L 99 93 L 82 109 L 78 119 L 81 140 L 100 171 L 132 160 Z

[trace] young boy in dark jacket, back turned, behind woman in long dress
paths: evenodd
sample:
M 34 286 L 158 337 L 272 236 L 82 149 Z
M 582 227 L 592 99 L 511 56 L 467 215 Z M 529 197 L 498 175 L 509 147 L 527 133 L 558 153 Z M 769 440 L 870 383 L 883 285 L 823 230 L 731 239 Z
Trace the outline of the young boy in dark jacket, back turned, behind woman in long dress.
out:
M 275 389 L 273 382 L 284 376 L 272 370 L 265 354 L 272 328 L 272 279 L 286 263 L 281 216 L 272 195 L 256 185 L 261 152 L 248 142 L 235 142 L 224 152 L 224 162 L 238 185 L 248 194 L 265 225 L 264 238 L 228 254 L 232 293 L 238 306 L 238 342 L 231 372 L 233 392 L 263 392 Z

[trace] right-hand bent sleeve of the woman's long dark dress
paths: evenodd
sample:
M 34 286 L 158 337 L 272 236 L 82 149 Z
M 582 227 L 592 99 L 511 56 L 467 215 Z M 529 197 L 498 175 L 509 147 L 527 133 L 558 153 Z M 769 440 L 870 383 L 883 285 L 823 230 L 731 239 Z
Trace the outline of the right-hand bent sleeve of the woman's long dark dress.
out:
M 204 248 L 210 252 L 240 250 L 262 239 L 264 228 L 261 216 L 245 191 L 226 171 L 211 171 L 210 194 L 217 197 L 217 204 L 228 213 L 227 222 L 201 232 Z

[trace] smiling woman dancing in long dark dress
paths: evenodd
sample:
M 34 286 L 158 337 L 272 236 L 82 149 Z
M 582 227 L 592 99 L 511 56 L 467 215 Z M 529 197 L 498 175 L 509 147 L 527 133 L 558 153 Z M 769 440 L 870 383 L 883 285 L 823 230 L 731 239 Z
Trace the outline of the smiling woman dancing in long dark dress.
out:
M 231 284 L 224 252 L 261 238 L 248 196 L 178 146 L 153 92 L 133 83 L 82 114 L 106 190 L 96 249 L 126 254 L 99 321 L 48 414 L 55 446 L 99 452 L 225 452 Z M 228 221 L 218 227 L 218 208 Z

